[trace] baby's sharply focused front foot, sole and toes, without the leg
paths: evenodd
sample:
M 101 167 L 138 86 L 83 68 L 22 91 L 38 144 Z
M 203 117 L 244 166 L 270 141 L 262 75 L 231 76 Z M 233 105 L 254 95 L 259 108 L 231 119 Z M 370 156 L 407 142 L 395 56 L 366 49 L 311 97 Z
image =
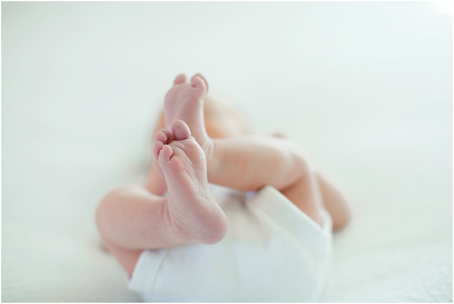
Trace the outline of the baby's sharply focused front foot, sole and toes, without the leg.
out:
M 182 120 L 160 130 L 153 157 L 168 187 L 169 228 L 178 240 L 214 244 L 227 233 L 227 219 L 208 189 L 205 154 Z

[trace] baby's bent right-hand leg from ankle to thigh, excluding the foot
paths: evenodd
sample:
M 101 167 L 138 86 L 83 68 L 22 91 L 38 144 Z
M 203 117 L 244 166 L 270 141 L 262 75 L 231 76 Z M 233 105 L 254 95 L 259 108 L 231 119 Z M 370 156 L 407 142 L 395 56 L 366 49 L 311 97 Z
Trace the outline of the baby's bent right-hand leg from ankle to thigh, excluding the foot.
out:
M 242 190 L 269 184 L 321 224 L 323 201 L 316 175 L 303 152 L 288 140 L 266 136 L 213 139 L 208 180 Z

